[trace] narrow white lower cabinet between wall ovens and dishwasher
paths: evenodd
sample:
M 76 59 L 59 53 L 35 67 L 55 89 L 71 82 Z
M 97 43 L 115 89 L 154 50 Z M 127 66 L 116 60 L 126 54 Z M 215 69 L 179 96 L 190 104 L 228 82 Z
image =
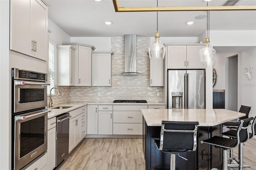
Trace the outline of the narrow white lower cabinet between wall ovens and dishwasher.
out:
M 47 154 L 48 168 L 46 169 L 53 170 L 56 166 L 56 117 L 48 120 Z

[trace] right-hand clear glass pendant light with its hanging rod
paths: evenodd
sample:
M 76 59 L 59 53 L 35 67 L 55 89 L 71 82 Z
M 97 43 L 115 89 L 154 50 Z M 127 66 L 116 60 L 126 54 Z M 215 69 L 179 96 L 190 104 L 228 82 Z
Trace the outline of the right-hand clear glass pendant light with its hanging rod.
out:
M 208 6 L 208 2 L 207 2 Z M 206 67 L 214 67 L 215 65 L 215 54 L 216 51 L 210 46 L 210 39 L 209 39 L 209 11 L 207 11 L 207 29 L 206 29 L 206 39 L 205 39 L 205 46 L 199 51 L 200 61 L 204 63 Z M 208 22 L 209 21 L 209 22 Z

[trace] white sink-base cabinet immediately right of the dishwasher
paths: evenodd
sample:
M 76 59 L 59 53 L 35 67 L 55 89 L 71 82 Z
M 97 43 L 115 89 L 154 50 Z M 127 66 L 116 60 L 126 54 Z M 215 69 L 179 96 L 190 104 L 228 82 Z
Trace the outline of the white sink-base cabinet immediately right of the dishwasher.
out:
M 69 119 L 68 153 L 70 153 L 83 138 L 81 120 L 86 119 L 82 117 L 85 114 L 85 112 L 86 112 L 85 106 L 69 112 L 71 118 Z

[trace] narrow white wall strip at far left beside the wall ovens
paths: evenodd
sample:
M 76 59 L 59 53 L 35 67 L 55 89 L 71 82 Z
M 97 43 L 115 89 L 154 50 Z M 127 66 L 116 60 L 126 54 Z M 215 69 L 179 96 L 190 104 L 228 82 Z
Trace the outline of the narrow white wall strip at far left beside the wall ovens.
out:
M 0 169 L 11 169 L 9 1 L 0 0 Z

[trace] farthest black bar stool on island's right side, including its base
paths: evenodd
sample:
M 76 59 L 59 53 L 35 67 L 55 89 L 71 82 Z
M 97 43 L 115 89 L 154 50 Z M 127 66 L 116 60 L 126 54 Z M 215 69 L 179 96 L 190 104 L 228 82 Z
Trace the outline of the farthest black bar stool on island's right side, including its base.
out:
M 233 128 L 237 128 L 239 123 L 240 123 L 240 120 L 246 119 L 250 116 L 250 114 L 252 112 L 252 107 L 241 105 L 238 112 L 245 113 L 246 115 L 243 116 L 243 117 L 238 118 L 236 122 L 225 122 L 225 123 L 222 124 L 222 126 L 226 127 L 226 128 L 229 128 L 230 130 L 233 129 Z M 233 160 L 235 160 L 238 163 L 238 160 L 236 160 L 236 158 L 233 157 L 233 150 L 232 149 L 230 149 L 230 154 L 229 154 L 228 160 L 230 161 L 230 164 L 232 164 Z

